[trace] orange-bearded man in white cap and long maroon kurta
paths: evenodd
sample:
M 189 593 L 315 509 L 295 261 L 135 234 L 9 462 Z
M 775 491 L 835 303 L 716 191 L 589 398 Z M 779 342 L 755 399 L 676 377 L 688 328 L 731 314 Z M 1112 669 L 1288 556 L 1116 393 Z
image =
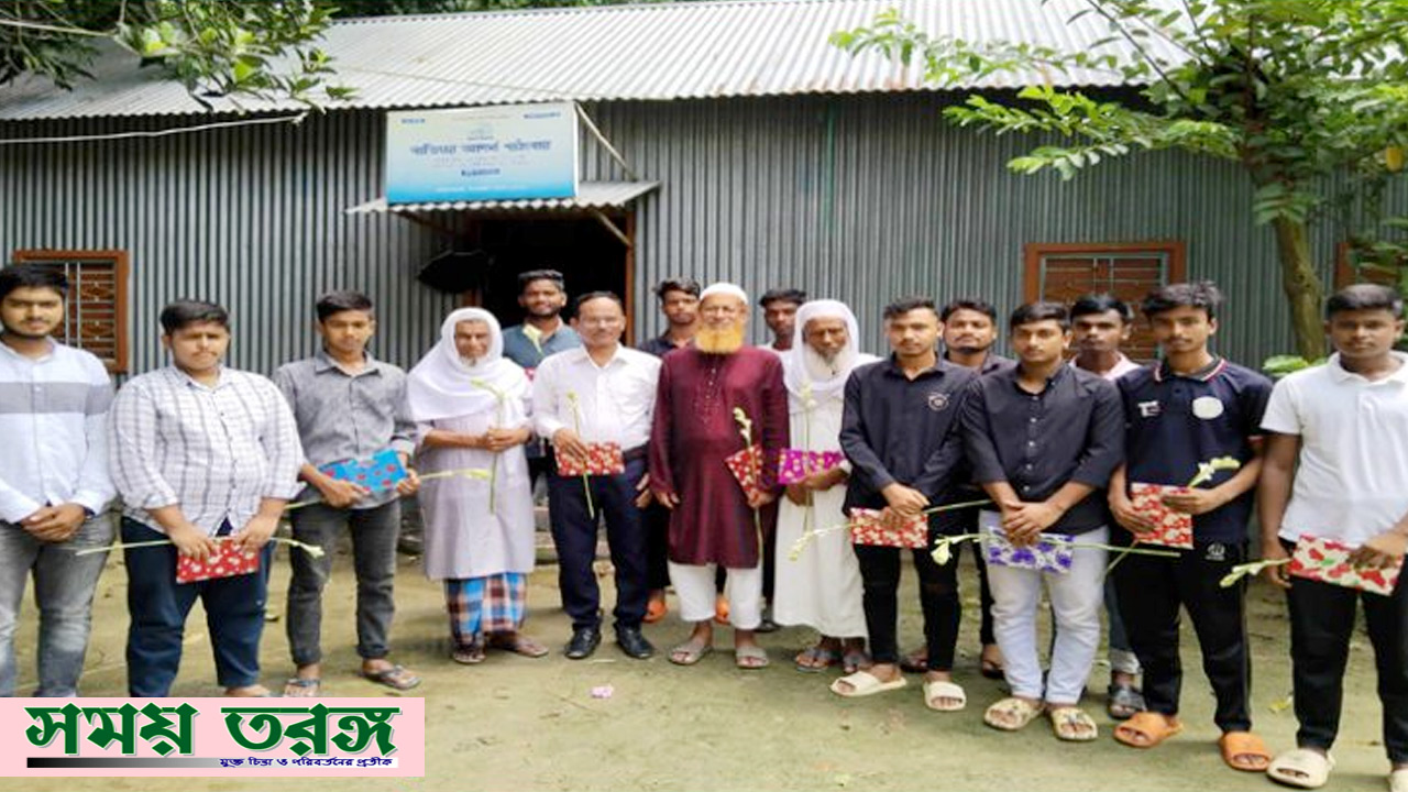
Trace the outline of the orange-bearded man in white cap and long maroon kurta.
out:
M 748 295 L 715 283 L 700 295 L 693 347 L 669 354 L 660 369 L 650 437 L 650 490 L 670 514 L 670 582 L 694 623 L 670 661 L 693 665 L 714 648 L 714 572 L 728 569 L 729 621 L 739 668 L 763 668 L 762 536 L 756 510 L 777 499 L 777 454 L 787 445 L 787 392 L 777 355 L 743 345 Z M 746 438 L 745 438 L 746 434 Z M 750 493 L 727 459 L 750 444 L 763 464 Z

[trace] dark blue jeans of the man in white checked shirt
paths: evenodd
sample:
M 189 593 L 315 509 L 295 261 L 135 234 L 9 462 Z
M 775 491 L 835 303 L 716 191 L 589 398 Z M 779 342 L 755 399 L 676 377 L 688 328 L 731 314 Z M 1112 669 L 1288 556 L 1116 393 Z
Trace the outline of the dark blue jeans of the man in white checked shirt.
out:
M 227 523 L 221 533 L 230 528 Z M 122 541 L 163 540 L 137 520 L 122 517 Z M 137 547 L 127 559 L 127 691 L 132 696 L 163 698 L 170 693 L 180 668 L 186 616 L 200 598 L 206 627 L 215 654 L 215 679 L 221 688 L 259 682 L 259 638 L 263 634 L 265 599 L 273 543 L 259 557 L 259 571 L 237 578 L 194 583 L 176 582 L 176 547 Z

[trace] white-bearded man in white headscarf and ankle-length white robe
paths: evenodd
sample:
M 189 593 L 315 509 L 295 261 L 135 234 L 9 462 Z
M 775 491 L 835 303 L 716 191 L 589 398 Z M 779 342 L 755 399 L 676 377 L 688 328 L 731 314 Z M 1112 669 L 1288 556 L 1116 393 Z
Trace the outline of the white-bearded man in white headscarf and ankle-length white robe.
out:
M 839 455 L 846 378 L 855 366 L 877 358 L 860 352 L 856 317 L 836 300 L 804 303 L 797 310 L 797 328 L 798 342 L 781 352 L 791 447 Z M 810 471 L 805 479 L 787 485 L 777 516 L 774 619 L 821 633 L 815 645 L 797 655 L 798 671 L 842 662 L 852 674 L 866 661 L 865 592 L 850 531 L 825 531 L 846 524 L 842 505 L 849 472 L 843 458 L 834 468 Z M 793 547 L 808 530 L 824 533 L 807 538 L 793 558 Z

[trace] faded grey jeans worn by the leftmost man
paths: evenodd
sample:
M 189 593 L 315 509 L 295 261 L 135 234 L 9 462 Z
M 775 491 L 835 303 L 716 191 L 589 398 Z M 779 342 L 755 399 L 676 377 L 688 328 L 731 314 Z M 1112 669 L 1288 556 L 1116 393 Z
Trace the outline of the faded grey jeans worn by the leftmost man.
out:
M 111 543 L 113 520 L 106 514 L 83 523 L 68 541 L 58 544 L 39 541 L 20 526 L 0 521 L 0 696 L 14 695 L 14 629 L 31 574 L 39 609 L 39 686 L 34 695 L 79 695 L 93 590 L 107 552 L 75 555 L 73 551 Z

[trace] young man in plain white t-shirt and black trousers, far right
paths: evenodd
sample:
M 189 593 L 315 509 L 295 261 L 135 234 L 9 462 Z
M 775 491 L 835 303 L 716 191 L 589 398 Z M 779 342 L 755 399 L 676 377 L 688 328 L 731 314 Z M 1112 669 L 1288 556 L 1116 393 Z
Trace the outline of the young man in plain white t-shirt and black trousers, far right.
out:
M 1312 534 L 1354 547 L 1357 567 L 1398 565 L 1408 548 L 1408 355 L 1393 348 L 1404 333 L 1402 299 L 1362 283 L 1332 296 L 1325 313 L 1336 352 L 1278 382 L 1262 419 L 1262 552 L 1284 559 L 1302 534 Z M 1408 792 L 1408 588 L 1381 596 L 1293 581 L 1286 565 L 1270 567 L 1267 578 L 1287 589 L 1300 722 L 1297 748 L 1278 755 L 1267 774 L 1304 789 L 1326 782 L 1354 609 L 1363 600 L 1393 762 L 1388 785 Z

